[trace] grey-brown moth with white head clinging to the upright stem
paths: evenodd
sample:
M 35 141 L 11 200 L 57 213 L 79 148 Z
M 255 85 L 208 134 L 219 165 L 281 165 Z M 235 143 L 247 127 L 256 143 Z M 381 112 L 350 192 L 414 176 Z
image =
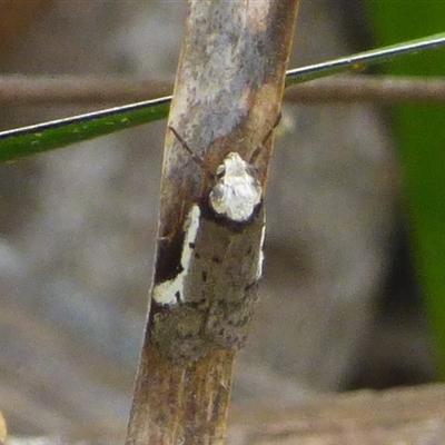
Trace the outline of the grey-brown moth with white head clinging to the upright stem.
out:
M 169 129 L 204 168 L 178 131 Z M 179 271 L 152 289 L 152 339 L 176 364 L 245 345 L 261 276 L 265 217 L 256 167 L 233 151 L 208 176 L 212 181 L 204 188 L 206 196 L 184 222 Z

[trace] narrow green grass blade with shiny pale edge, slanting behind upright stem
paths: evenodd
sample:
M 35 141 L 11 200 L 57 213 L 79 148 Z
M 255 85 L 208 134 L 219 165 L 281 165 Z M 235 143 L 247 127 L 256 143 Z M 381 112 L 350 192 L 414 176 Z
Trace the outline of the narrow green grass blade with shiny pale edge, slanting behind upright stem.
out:
M 301 83 L 338 72 L 363 70 L 386 62 L 400 55 L 418 52 L 445 43 L 445 32 L 393 44 L 377 50 L 360 52 L 287 72 L 286 86 Z M 27 156 L 67 147 L 99 136 L 110 135 L 168 115 L 171 97 L 116 107 L 68 119 L 53 120 L 16 130 L 0 132 L 0 162 L 14 161 Z

